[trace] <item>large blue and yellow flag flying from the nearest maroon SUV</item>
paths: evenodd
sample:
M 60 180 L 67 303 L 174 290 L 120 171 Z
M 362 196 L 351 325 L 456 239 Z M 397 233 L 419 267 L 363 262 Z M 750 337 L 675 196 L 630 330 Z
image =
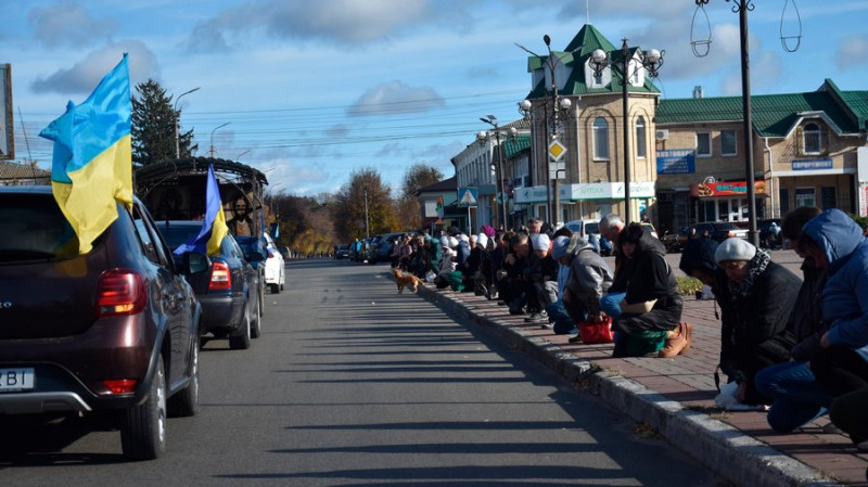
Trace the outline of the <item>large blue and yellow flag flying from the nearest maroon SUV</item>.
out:
M 52 192 L 80 254 L 117 218 L 115 202 L 132 206 L 131 114 L 125 53 L 84 103 L 71 101 L 39 133 L 54 141 Z

